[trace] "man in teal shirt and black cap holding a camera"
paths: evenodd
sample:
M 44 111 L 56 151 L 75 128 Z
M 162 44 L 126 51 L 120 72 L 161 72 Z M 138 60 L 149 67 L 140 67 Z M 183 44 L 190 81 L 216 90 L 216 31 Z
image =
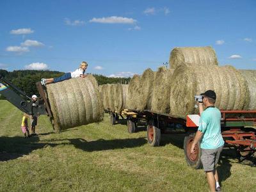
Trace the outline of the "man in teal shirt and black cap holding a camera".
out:
M 201 95 L 202 102 L 199 102 L 200 125 L 191 146 L 191 153 L 195 153 L 195 145 L 202 139 L 200 143 L 200 148 L 202 148 L 201 161 L 204 166 L 207 182 L 211 191 L 220 191 L 216 164 L 224 145 L 220 126 L 221 113 L 214 106 L 216 101 L 216 93 L 214 91 L 207 90 Z M 203 104 L 206 107 L 205 110 Z

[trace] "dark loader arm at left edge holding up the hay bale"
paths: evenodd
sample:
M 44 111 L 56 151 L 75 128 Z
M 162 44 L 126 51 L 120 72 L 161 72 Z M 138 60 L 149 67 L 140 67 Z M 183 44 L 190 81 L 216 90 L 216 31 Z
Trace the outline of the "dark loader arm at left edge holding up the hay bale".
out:
M 28 115 L 48 115 L 45 110 L 44 100 L 38 97 L 34 103 L 26 93 L 22 92 L 12 82 L 0 75 L 0 94 L 20 111 Z

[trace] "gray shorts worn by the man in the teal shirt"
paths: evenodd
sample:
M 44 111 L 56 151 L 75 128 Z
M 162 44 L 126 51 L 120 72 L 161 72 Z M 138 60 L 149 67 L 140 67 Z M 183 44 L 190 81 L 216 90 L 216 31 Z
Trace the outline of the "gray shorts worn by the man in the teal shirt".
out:
M 223 146 L 214 149 L 202 148 L 201 161 L 205 172 L 212 172 L 215 170 L 215 166 L 219 161 L 222 149 Z

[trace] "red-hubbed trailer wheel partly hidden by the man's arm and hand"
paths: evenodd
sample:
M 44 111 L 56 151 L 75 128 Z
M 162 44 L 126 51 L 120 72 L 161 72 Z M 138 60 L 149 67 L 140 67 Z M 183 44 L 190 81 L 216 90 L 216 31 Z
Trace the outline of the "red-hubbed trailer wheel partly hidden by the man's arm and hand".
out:
M 201 148 L 200 143 L 198 142 L 195 147 L 195 154 L 190 153 L 191 145 L 195 138 L 195 132 L 188 134 L 184 138 L 184 153 L 185 153 L 185 159 L 189 166 L 192 166 L 195 169 L 202 168 L 202 162 L 201 162 Z

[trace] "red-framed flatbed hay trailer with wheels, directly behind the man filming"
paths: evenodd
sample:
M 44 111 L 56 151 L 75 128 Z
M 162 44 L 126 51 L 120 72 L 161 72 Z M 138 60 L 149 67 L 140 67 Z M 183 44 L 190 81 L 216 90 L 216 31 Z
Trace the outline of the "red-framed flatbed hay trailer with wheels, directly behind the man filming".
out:
M 256 163 L 256 130 L 250 128 L 256 125 L 256 111 L 221 111 L 221 117 L 221 134 L 225 140 L 225 146 L 236 148 L 239 161 L 251 159 Z M 196 145 L 196 153 L 190 153 L 191 144 L 199 126 L 199 115 L 188 115 L 186 118 L 182 118 L 180 116 L 156 113 L 150 110 L 136 111 L 130 109 L 129 113 L 127 113 L 129 122 L 127 123 L 128 130 L 134 126 L 136 130 L 138 118 L 147 120 L 147 139 L 152 147 L 160 145 L 161 134 L 166 132 L 168 125 L 182 125 L 184 132 L 186 132 L 186 136 L 184 137 L 184 154 L 186 161 L 189 166 L 196 169 L 202 166 L 199 143 Z

